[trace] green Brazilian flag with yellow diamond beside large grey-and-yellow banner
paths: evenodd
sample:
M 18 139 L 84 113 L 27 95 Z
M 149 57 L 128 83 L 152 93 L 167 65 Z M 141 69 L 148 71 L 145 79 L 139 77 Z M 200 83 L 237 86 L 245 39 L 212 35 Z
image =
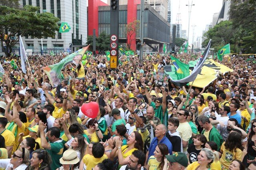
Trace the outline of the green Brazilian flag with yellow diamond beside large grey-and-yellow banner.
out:
M 178 80 L 189 76 L 189 65 L 182 63 L 179 59 L 171 55 L 172 63 L 175 67 L 175 74 Z

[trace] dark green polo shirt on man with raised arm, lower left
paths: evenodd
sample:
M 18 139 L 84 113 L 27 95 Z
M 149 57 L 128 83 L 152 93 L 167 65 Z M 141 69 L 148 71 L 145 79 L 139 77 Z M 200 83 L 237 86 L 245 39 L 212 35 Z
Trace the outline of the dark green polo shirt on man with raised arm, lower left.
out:
M 59 168 L 61 166 L 60 158 L 62 157 L 64 146 L 62 144 L 62 140 L 58 140 L 54 143 L 50 142 L 50 145 L 51 145 L 51 150 L 46 149 L 46 151 L 52 157 L 52 164 L 50 165 L 51 169 L 56 170 L 57 168 Z

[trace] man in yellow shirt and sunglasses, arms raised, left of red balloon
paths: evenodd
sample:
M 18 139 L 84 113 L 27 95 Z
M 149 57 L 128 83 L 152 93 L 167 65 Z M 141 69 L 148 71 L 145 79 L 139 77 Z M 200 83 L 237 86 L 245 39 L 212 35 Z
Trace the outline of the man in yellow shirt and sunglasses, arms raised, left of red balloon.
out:
M 61 118 L 62 115 L 66 113 L 66 110 L 68 109 L 67 107 L 67 98 L 68 98 L 68 93 L 63 93 L 63 98 L 60 97 L 56 101 L 52 98 L 52 96 L 48 93 L 48 90 L 46 87 L 43 85 L 42 87 L 44 94 L 48 98 L 49 102 L 54 106 L 54 111 L 52 113 L 52 116 L 56 118 Z

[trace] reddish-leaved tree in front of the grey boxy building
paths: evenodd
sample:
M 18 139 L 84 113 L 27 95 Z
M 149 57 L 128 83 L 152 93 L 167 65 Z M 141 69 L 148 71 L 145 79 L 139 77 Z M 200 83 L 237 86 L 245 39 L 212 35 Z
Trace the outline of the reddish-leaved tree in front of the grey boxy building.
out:
M 128 49 L 131 48 L 132 41 L 136 40 L 136 33 L 140 29 L 140 20 L 134 20 L 126 25 L 124 34 L 126 35 L 126 43 Z

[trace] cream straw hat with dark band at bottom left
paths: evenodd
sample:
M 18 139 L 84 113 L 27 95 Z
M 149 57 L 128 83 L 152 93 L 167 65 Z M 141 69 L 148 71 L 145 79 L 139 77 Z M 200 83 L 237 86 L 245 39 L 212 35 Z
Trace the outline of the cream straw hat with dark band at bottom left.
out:
M 75 150 L 68 149 L 63 153 L 62 158 L 60 158 L 60 163 L 63 165 L 70 164 L 74 165 L 79 162 L 79 158 Z

